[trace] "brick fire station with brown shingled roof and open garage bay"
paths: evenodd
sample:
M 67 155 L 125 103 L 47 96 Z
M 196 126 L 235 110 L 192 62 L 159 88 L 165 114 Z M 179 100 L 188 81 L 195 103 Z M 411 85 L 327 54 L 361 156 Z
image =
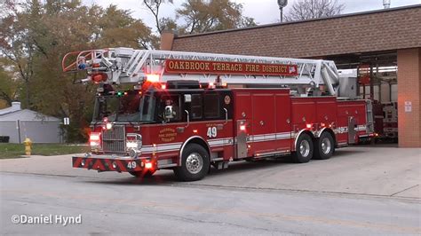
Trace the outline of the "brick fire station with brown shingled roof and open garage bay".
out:
M 338 69 L 358 68 L 361 97 L 397 107 L 399 146 L 421 147 L 421 4 L 199 35 L 163 33 L 161 49 L 331 59 Z

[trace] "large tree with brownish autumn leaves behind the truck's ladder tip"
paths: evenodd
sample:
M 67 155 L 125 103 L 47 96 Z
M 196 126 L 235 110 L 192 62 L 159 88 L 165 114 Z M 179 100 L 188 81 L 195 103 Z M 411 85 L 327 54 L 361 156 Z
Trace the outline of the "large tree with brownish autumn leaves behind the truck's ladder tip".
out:
M 63 56 L 92 48 L 151 48 L 156 37 L 115 5 L 31 0 L 14 6 L 0 20 L 0 50 L 23 83 L 19 98 L 27 97 L 24 105 L 42 114 L 70 117 L 69 141 L 86 138 L 96 87 L 75 83 L 83 73 L 63 73 Z

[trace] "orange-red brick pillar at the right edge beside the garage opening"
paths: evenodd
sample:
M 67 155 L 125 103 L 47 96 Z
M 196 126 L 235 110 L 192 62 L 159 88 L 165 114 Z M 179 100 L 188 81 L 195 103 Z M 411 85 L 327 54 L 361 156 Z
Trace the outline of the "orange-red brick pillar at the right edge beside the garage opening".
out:
M 399 146 L 421 147 L 421 49 L 398 51 Z M 405 111 L 411 102 L 411 112 Z

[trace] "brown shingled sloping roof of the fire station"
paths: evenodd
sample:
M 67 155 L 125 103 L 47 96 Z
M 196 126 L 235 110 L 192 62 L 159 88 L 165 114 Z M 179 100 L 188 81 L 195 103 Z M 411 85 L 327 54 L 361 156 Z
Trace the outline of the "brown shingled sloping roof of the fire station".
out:
M 421 47 L 421 5 L 173 39 L 173 51 L 308 58 Z M 171 38 L 168 37 L 167 38 Z M 167 40 L 163 44 L 169 45 Z

